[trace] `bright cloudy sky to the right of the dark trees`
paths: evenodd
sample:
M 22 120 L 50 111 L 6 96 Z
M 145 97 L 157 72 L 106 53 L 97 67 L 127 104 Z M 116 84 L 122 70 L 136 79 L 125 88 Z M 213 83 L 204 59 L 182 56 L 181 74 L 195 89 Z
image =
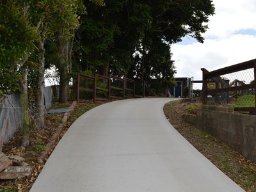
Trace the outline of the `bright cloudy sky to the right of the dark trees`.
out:
M 175 76 L 201 80 L 200 68 L 211 71 L 256 58 L 256 1 L 213 0 L 213 3 L 215 15 L 203 35 L 204 44 L 184 37 L 182 42 L 172 45 Z

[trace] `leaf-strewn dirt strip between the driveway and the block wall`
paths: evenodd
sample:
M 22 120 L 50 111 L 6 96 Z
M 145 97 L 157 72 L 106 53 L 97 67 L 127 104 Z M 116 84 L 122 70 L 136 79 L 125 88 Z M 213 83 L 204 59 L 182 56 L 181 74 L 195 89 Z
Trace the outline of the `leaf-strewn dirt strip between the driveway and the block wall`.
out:
M 199 102 L 170 102 L 164 106 L 164 114 L 177 131 L 207 159 L 245 191 L 256 191 L 256 164 L 246 160 L 238 152 L 211 134 L 184 122 L 184 113 L 195 113 Z

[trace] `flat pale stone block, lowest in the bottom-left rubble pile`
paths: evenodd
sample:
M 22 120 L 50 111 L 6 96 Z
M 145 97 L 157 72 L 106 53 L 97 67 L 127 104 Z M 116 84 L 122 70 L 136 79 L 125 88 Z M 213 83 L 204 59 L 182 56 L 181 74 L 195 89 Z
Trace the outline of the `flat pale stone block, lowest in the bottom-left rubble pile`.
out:
M 21 179 L 31 175 L 30 166 L 8 166 L 0 173 L 0 179 Z

